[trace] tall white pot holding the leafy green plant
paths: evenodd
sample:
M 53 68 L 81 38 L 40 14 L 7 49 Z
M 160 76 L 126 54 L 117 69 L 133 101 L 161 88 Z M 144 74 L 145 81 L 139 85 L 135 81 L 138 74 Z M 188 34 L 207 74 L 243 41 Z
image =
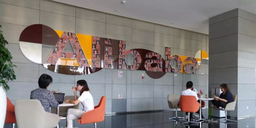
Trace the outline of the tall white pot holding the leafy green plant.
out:
M 7 107 L 6 92 L 3 86 L 0 86 L 0 101 L 0 127 L 3 127 L 5 124 L 5 114 Z

